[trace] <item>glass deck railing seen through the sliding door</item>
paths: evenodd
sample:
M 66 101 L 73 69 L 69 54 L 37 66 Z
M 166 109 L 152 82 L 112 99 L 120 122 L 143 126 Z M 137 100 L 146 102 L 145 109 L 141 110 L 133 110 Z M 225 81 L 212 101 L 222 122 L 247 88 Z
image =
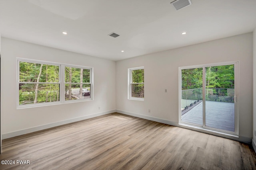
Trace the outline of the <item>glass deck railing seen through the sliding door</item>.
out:
M 203 99 L 203 89 L 194 88 L 190 90 L 182 90 L 182 110 L 188 109 L 197 102 Z M 234 89 L 233 88 L 206 88 L 205 100 L 214 102 L 231 102 L 234 103 Z

